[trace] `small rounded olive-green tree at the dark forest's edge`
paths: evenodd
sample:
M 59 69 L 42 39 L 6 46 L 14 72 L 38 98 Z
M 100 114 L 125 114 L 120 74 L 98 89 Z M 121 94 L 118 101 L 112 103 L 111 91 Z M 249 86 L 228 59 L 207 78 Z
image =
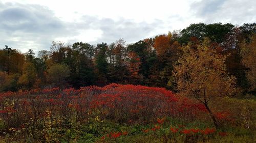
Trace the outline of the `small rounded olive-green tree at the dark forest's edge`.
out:
M 47 72 L 48 81 L 59 87 L 65 86 L 65 79 L 70 76 L 69 67 L 63 64 L 54 64 Z

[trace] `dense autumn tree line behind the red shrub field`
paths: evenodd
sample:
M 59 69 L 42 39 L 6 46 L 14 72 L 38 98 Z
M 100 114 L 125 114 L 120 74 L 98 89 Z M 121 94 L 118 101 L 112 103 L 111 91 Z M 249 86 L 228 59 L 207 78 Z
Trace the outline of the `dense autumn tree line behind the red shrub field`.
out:
M 126 44 L 123 39 L 96 45 L 53 41 L 49 51 L 41 50 L 37 56 L 31 49 L 21 53 L 6 45 L 0 50 L 0 91 L 79 88 L 109 83 L 141 84 L 177 91 L 179 80 L 174 71 L 180 64 L 178 59 L 188 55 L 189 50 L 184 48 L 199 50 L 207 39 L 209 49 L 225 56 L 226 72 L 234 77 L 237 88 L 243 93 L 255 93 L 255 33 L 256 23 L 241 26 L 194 23 L 181 31 L 133 44 Z M 205 75 L 214 77 L 215 74 L 213 71 Z

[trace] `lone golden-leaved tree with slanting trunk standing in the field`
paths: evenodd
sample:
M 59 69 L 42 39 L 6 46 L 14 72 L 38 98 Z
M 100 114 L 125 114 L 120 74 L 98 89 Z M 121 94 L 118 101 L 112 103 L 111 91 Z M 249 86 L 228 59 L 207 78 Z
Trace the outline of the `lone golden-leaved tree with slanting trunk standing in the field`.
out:
M 226 72 L 226 56 L 209 47 L 208 39 L 197 48 L 191 48 L 191 44 L 182 47 L 183 55 L 174 66 L 174 76 L 180 94 L 202 102 L 218 128 L 218 121 L 209 105 L 214 104 L 211 99 L 233 93 L 234 78 Z

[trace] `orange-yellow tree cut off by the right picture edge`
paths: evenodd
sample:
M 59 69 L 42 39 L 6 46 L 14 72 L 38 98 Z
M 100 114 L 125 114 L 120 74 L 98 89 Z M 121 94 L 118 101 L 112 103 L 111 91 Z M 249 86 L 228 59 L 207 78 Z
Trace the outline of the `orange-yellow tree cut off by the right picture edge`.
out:
M 256 90 L 256 34 L 252 36 L 251 42 L 245 41 L 241 44 L 242 63 L 249 70 L 246 76 L 250 81 L 251 89 Z

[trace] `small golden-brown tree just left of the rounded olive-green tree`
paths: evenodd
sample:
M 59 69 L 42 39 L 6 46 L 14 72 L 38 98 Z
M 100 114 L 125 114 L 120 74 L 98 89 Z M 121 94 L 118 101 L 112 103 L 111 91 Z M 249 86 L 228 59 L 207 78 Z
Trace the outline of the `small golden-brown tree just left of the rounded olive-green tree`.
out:
M 22 76 L 18 79 L 18 84 L 25 89 L 31 89 L 36 81 L 36 69 L 33 63 L 27 62 L 23 65 Z

